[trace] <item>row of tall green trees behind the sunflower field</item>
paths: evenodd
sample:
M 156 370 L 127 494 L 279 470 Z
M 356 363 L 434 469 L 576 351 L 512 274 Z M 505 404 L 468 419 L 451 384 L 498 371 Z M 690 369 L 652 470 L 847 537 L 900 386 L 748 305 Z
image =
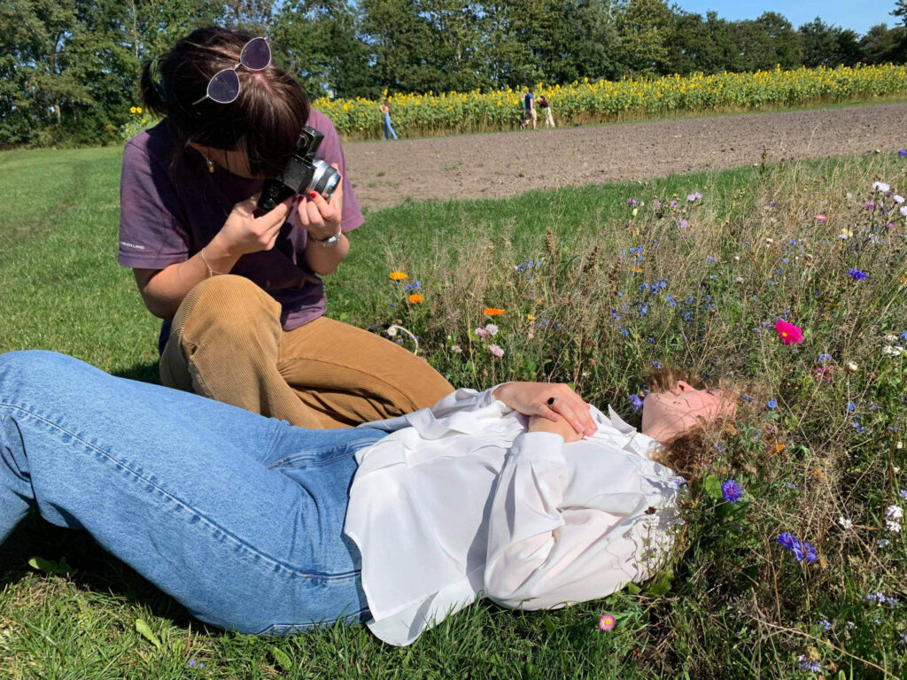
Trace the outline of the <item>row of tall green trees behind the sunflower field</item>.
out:
M 143 60 L 200 25 L 268 35 L 313 97 L 907 62 L 907 0 L 866 34 L 667 0 L 6 0 L 0 146 L 120 141 Z

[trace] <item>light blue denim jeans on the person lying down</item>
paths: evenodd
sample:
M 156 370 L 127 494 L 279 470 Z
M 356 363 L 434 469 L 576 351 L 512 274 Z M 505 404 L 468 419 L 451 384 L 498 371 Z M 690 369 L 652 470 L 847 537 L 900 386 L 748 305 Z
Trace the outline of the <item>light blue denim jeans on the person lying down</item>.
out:
M 291 427 L 52 352 L 0 355 L 0 543 L 37 506 L 213 626 L 364 620 L 343 523 L 356 451 L 384 435 Z

